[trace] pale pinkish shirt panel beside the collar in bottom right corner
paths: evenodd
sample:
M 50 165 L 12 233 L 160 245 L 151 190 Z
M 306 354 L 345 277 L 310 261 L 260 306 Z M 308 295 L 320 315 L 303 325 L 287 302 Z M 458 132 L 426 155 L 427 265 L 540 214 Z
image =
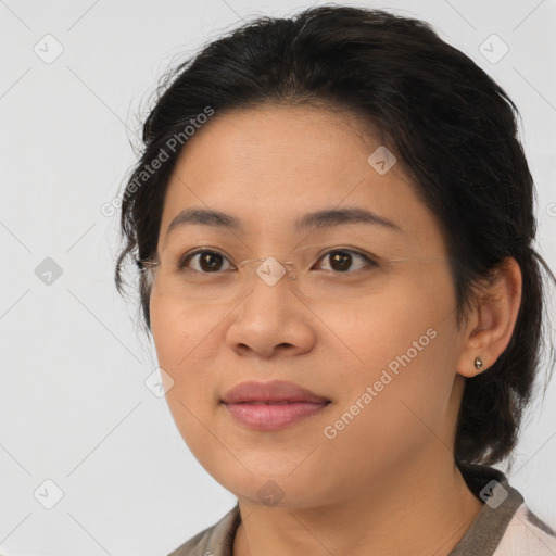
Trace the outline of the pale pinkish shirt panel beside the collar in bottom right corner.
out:
M 493 556 L 553 556 L 556 532 L 521 504 L 509 521 Z

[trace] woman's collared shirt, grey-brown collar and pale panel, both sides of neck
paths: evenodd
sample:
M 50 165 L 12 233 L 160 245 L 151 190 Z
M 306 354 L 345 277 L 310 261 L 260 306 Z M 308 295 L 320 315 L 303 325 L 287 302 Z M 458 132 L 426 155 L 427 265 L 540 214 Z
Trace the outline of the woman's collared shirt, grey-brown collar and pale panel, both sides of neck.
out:
M 555 556 L 556 533 L 525 504 L 521 494 L 493 467 L 459 464 L 471 492 L 484 503 L 448 556 Z M 168 556 L 233 556 L 241 522 L 239 504 Z

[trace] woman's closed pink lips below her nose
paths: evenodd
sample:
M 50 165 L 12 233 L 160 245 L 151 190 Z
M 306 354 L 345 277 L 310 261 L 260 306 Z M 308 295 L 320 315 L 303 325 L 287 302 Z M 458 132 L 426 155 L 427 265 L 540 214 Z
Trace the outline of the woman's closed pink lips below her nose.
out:
M 279 430 L 326 407 L 330 400 L 292 382 L 242 382 L 223 403 L 242 425 L 258 430 Z

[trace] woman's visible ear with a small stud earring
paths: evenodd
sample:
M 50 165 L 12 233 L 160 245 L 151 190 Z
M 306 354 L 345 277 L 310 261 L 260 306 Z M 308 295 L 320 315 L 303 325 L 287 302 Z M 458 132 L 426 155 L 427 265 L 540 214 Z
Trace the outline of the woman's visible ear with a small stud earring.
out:
M 511 339 L 521 303 L 521 269 L 514 257 L 505 258 L 481 282 L 479 299 L 469 312 L 464 330 L 457 372 L 475 377 L 492 367 Z M 475 366 L 476 357 L 483 362 Z

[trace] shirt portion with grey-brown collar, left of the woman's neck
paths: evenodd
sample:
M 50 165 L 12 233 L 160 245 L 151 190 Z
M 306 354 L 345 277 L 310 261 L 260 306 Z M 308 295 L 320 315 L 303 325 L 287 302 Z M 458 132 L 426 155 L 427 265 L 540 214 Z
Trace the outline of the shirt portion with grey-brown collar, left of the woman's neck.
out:
M 239 506 L 236 504 L 218 522 L 197 533 L 168 556 L 231 556 L 240 521 Z

